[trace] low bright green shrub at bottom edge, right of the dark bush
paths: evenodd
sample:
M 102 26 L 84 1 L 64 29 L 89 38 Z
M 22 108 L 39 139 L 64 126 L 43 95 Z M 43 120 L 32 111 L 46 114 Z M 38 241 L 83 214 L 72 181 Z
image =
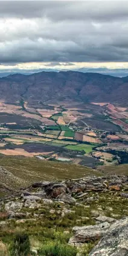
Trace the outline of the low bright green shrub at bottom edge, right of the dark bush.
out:
M 68 244 L 45 244 L 39 250 L 40 256 L 75 256 L 77 249 Z

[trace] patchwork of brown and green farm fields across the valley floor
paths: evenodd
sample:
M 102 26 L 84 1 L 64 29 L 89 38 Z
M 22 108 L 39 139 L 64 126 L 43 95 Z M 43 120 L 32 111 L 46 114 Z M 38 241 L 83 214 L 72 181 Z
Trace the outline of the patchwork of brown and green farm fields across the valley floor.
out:
M 103 102 L 47 102 L 29 106 L 22 100 L 14 108 L 2 102 L 0 153 L 26 157 L 45 155 L 45 160 L 53 161 L 68 157 L 75 164 L 92 167 L 100 156 L 95 150 L 98 145 L 100 148 L 114 140 L 127 142 L 126 120 L 127 108 Z M 103 158 L 103 164 L 108 165 L 106 157 Z

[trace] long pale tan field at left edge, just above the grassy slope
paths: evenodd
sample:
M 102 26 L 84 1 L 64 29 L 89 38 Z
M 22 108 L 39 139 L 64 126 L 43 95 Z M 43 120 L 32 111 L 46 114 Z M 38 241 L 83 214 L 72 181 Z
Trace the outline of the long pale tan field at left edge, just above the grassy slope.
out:
M 23 148 L 15 148 L 14 150 L 0 150 L 1 154 L 6 154 L 8 156 L 28 156 L 28 157 L 33 157 L 33 156 L 37 156 L 39 154 L 49 154 L 49 153 L 53 153 L 53 151 L 51 152 L 39 152 L 39 153 L 35 153 L 35 152 L 27 152 L 25 151 Z

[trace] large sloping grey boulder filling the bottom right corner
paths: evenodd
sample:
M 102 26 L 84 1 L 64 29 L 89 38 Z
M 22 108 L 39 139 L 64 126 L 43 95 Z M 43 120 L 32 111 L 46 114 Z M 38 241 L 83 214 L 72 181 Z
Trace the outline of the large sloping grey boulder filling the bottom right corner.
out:
M 116 221 L 110 226 L 89 256 L 127 256 L 128 218 Z

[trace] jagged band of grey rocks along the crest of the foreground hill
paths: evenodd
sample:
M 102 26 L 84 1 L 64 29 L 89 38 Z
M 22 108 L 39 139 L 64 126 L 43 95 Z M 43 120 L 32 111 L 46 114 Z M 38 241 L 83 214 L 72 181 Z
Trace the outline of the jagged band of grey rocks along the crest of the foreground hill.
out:
M 91 177 L 86 176 L 81 179 L 72 179 L 69 181 L 62 182 L 36 182 L 27 189 L 21 189 L 19 192 L 14 193 L 8 198 L 15 198 L 21 196 L 24 200 L 36 201 L 39 199 L 57 199 L 60 195 L 70 195 L 75 199 L 82 199 L 90 202 L 95 198 L 88 198 L 89 192 L 106 192 L 106 191 L 120 191 L 123 186 L 128 188 L 128 177 L 127 176 L 109 176 L 109 177 Z M 33 192 L 33 190 L 35 190 Z M 127 197 L 126 193 L 121 191 L 121 196 Z M 60 196 L 61 198 L 61 196 Z M 59 198 L 59 199 L 60 199 Z M 2 201 L 3 199 L 0 199 Z M 11 200 L 12 201 L 12 200 Z

